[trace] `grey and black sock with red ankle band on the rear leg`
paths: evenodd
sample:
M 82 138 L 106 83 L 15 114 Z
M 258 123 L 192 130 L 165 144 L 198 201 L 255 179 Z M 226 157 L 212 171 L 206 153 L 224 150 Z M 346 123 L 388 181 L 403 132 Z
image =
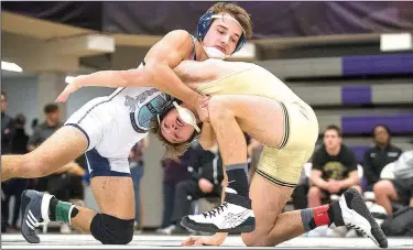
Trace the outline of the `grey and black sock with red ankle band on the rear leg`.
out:
M 301 219 L 303 221 L 304 231 L 311 231 L 319 226 L 345 226 L 341 209 L 338 202 L 315 208 L 301 210 Z

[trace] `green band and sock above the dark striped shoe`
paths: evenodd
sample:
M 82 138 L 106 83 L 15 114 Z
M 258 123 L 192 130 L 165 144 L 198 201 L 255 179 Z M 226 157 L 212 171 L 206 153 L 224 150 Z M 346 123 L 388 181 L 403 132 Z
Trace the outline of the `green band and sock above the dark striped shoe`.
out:
M 70 224 L 70 218 L 75 217 L 79 210 L 72 203 L 58 200 L 56 197 L 51 198 L 48 205 L 48 218 L 51 221 L 61 221 Z

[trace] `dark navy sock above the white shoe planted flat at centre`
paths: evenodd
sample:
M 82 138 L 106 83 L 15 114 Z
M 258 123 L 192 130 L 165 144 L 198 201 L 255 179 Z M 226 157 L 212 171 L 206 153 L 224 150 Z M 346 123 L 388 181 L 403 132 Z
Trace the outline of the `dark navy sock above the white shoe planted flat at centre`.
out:
M 227 165 L 226 170 L 228 187 L 235 189 L 238 195 L 249 197 L 248 163 Z

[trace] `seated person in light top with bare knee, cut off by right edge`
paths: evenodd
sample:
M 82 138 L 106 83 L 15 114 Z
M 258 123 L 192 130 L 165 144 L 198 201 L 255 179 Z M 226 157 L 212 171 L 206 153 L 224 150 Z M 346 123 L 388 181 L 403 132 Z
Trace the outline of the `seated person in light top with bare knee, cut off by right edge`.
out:
M 381 180 L 373 186 L 376 203 L 393 214 L 392 202 L 413 207 L 413 150 L 394 162 L 394 180 Z

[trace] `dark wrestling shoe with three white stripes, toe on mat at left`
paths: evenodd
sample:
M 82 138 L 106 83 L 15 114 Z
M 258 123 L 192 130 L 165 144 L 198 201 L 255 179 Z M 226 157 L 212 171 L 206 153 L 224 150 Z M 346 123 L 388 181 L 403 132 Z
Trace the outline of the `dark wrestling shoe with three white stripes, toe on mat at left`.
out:
M 21 232 L 30 243 L 39 243 L 35 228 L 50 222 L 48 204 L 53 196 L 37 191 L 24 191 L 21 195 Z

